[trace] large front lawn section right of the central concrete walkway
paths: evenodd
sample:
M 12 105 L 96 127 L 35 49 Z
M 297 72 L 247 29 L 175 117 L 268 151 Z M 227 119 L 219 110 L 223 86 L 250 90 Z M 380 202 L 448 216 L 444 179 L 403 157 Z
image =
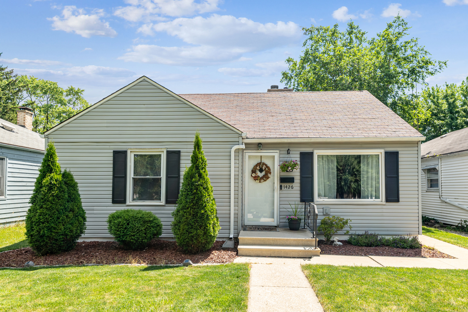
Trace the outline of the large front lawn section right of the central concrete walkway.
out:
M 468 311 L 468 270 L 304 265 L 325 312 Z

